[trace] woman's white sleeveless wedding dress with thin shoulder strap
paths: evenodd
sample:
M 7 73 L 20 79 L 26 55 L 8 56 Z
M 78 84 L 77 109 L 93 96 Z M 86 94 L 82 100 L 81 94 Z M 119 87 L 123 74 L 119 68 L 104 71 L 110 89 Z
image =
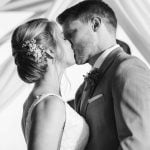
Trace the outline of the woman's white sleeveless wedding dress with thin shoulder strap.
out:
M 34 99 L 32 105 L 28 105 L 28 101 L 25 102 L 22 127 L 26 143 L 28 143 L 29 138 L 32 111 L 38 103 L 40 103 L 42 100 L 44 100 L 45 97 L 50 95 L 57 96 L 62 99 L 62 97 L 58 95 L 49 93 L 38 96 L 36 99 Z M 74 111 L 69 106 L 69 104 L 67 104 L 67 102 L 64 101 L 64 103 L 66 106 L 66 122 L 64 125 L 60 150 L 84 150 L 88 142 L 89 127 L 83 117 L 81 117 L 76 111 Z

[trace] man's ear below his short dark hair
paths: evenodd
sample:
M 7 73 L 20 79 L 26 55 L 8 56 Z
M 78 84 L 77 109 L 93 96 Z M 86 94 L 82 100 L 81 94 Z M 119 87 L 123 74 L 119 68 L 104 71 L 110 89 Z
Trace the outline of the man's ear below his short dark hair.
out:
M 93 17 L 91 19 L 92 29 L 96 32 L 101 26 L 101 18 L 100 17 Z

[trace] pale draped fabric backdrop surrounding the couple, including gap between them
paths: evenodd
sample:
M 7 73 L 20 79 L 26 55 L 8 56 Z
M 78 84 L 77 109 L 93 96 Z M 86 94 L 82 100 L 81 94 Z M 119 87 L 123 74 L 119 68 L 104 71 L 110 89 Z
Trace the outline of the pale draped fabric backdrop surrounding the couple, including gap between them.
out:
M 33 85 L 17 75 L 11 54 L 13 30 L 28 20 L 46 17 L 55 20 L 66 8 L 82 0 L 1 0 L 0 2 L 0 150 L 26 150 L 21 129 L 22 107 Z M 131 54 L 150 63 L 150 1 L 104 0 L 116 13 L 117 38 L 126 42 Z M 62 94 L 67 101 L 90 70 L 88 64 L 74 65 L 62 79 Z M 69 81 L 69 82 L 68 82 Z

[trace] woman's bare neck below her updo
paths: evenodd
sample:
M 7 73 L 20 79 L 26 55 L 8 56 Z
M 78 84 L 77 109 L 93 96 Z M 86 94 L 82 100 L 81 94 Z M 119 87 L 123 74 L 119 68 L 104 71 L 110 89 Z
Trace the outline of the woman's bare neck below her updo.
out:
M 61 95 L 60 84 L 63 73 L 64 68 L 57 64 L 48 67 L 43 79 L 35 84 L 34 91 L 36 95 L 44 93 Z

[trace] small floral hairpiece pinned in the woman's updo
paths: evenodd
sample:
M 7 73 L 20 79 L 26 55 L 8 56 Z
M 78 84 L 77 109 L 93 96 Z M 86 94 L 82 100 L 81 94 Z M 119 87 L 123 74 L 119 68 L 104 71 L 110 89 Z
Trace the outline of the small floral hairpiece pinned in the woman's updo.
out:
M 35 62 L 41 63 L 46 60 L 46 49 L 43 45 L 38 45 L 35 39 L 25 41 L 22 48 L 27 48 L 27 55 L 33 56 Z

